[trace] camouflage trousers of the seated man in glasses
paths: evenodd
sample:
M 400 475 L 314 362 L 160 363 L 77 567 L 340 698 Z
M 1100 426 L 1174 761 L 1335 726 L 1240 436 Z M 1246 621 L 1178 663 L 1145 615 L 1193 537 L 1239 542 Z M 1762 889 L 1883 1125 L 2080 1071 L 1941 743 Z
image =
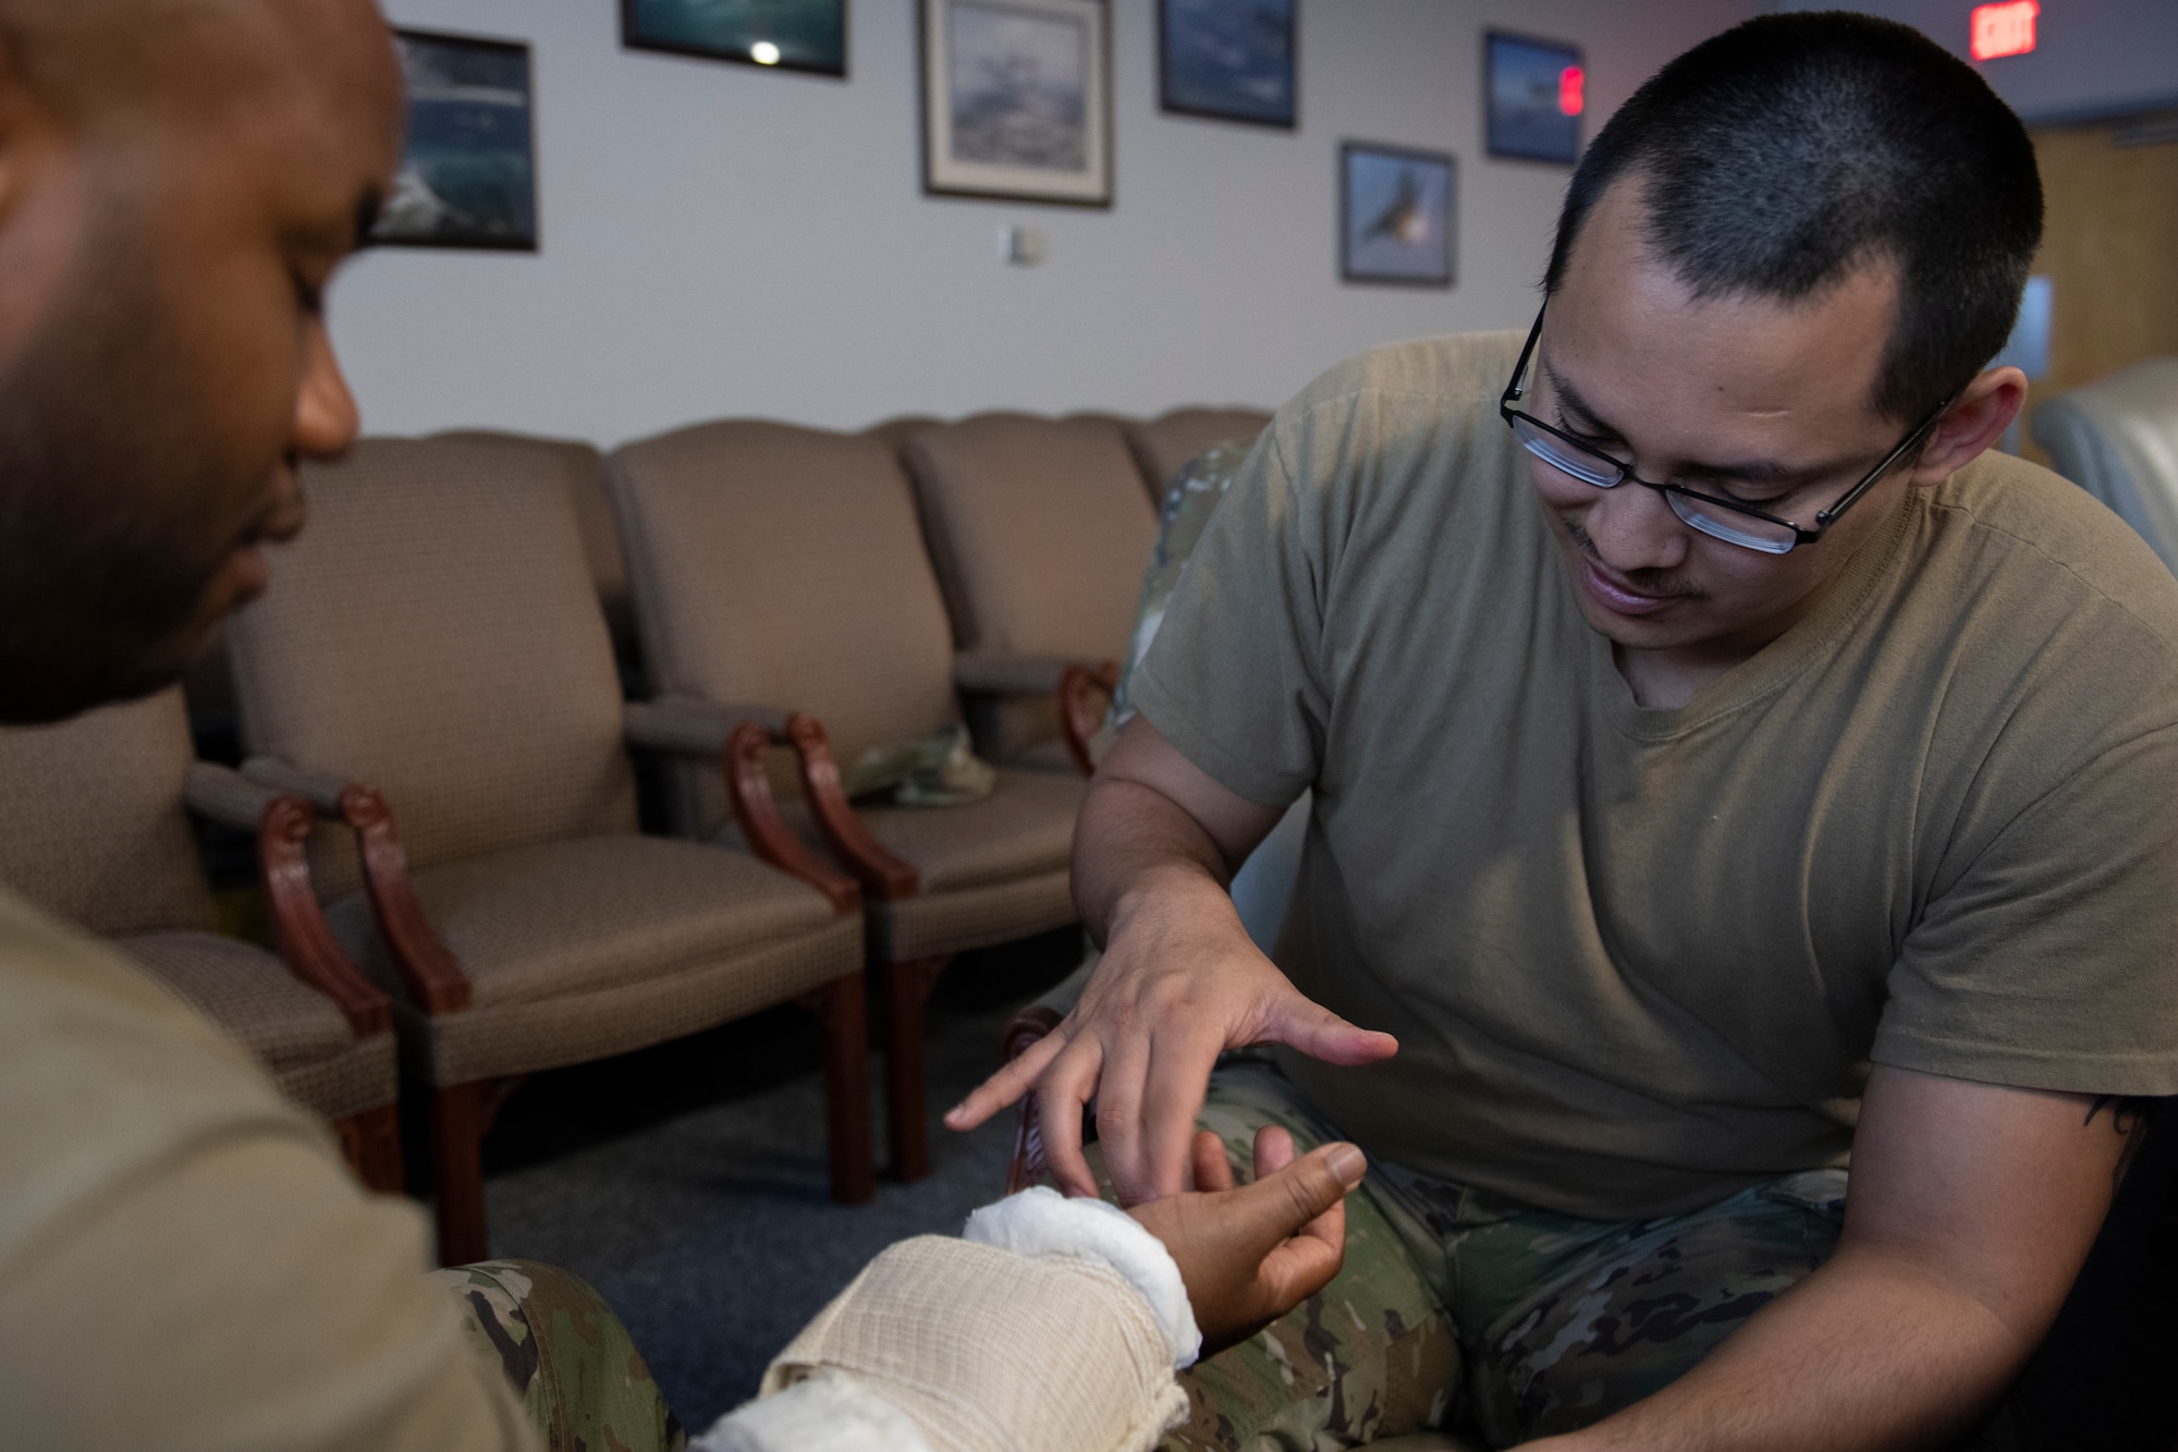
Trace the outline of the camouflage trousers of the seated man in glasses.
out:
M 1222 1068 L 1202 1125 L 1248 1162 L 1276 1123 L 1337 1138 L 1268 1066 Z M 1838 1243 L 1845 1171 L 1657 1221 L 1583 1221 L 1372 1164 L 1346 1265 L 1250 1341 L 1185 1371 L 1167 1452 L 1320 1452 L 1424 1428 L 1492 1448 L 1570 1432 L 1701 1360 Z

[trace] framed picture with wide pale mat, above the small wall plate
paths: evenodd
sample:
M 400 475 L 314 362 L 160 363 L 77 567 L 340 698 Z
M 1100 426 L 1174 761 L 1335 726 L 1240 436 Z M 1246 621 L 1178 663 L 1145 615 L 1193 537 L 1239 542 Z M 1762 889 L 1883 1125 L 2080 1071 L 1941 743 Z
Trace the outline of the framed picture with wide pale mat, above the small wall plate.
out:
M 1111 205 L 1104 0 L 923 0 L 923 190 Z

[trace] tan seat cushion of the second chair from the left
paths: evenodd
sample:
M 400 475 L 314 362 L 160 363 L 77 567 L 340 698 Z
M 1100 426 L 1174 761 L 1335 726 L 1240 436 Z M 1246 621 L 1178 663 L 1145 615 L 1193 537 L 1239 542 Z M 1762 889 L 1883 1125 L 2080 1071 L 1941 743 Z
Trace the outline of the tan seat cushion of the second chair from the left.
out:
M 477 1007 L 608 990 L 834 918 L 815 887 L 754 857 L 634 833 L 484 852 L 414 883 Z M 405 999 L 364 894 L 327 918 L 364 972 Z

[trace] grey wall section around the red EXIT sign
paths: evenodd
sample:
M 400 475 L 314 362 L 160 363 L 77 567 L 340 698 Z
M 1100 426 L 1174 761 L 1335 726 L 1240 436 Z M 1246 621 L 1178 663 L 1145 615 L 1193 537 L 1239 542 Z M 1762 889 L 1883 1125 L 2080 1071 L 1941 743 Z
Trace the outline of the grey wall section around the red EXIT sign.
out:
M 1960 59 L 1978 0 L 1786 0 L 1919 28 Z M 2028 124 L 2178 105 L 2178 0 L 2043 0 L 2030 55 L 1982 61 L 1989 87 Z

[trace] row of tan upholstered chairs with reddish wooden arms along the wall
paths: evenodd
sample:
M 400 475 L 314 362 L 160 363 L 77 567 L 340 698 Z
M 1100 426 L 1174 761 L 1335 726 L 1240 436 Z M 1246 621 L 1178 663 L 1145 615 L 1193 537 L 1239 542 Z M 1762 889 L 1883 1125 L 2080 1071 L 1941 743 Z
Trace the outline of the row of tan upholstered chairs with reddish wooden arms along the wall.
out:
M 832 1193 L 867 1199 L 865 966 L 917 1177 L 937 972 L 1074 918 L 1054 689 L 1124 650 L 1152 482 L 1261 425 L 366 440 L 305 469 L 307 532 L 192 680 L 200 717 L 231 706 L 240 770 L 194 757 L 179 693 L 0 733 L 26 824 L 0 881 L 118 937 L 388 1188 L 399 1057 L 449 1262 L 488 1249 L 479 1145 L 523 1075 L 786 1001 L 823 1025 Z M 845 798 L 843 761 L 963 713 L 989 798 Z M 640 831 L 632 746 L 669 833 Z M 255 833 L 279 957 L 211 931 L 192 811 Z

